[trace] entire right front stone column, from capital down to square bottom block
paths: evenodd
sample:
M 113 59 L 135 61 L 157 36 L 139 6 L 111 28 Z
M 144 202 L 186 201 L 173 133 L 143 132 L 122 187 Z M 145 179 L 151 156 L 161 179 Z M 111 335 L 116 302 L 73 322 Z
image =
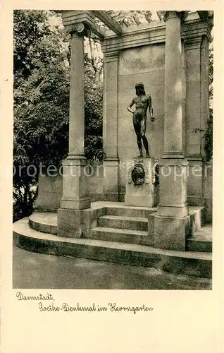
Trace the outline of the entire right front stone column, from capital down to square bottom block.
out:
M 154 246 L 185 250 L 187 237 L 187 160 L 182 151 L 181 20 L 187 11 L 163 11 L 166 21 L 164 152 L 160 164 Z

